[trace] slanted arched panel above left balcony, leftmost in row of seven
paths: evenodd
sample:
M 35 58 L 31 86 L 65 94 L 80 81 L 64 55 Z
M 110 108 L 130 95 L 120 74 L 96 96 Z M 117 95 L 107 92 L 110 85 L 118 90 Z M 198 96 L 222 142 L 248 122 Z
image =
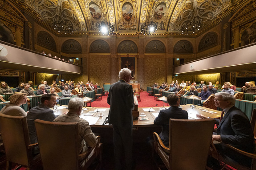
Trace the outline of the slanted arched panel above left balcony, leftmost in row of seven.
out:
M 55 40 L 48 32 L 41 31 L 37 33 L 37 44 L 50 50 L 57 51 Z

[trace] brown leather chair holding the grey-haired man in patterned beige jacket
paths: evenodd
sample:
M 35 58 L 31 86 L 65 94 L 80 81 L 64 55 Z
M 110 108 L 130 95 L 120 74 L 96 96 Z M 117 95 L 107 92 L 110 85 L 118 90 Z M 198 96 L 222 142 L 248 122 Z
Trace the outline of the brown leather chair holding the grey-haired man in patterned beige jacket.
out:
M 93 148 L 79 154 L 78 123 L 36 119 L 35 126 L 44 170 L 86 170 L 96 158 L 101 165 L 102 143 L 99 136 Z M 85 159 L 85 166 L 81 168 L 80 162 Z

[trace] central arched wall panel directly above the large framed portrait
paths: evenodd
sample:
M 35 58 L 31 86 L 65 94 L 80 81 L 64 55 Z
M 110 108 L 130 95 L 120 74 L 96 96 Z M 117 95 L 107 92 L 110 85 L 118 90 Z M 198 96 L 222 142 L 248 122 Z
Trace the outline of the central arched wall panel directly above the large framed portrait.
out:
M 138 53 L 138 47 L 133 41 L 124 40 L 118 45 L 118 53 Z

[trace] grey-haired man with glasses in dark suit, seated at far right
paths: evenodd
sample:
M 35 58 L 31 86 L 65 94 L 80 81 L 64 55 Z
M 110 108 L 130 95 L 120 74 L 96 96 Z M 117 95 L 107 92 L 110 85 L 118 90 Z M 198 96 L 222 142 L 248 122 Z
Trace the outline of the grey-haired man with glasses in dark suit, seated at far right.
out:
M 219 127 L 217 132 L 212 135 L 212 140 L 221 141 L 237 149 L 253 153 L 255 146 L 251 123 L 244 112 L 235 107 L 235 97 L 228 93 L 219 92 L 215 94 L 214 102 L 216 107 L 223 109 L 225 115 L 223 116 L 222 113 L 220 119 L 215 119 L 215 123 L 219 124 Z M 203 115 L 199 117 L 207 118 Z M 222 143 L 215 143 L 215 146 L 224 159 L 232 159 L 241 165 L 251 167 L 252 158 L 239 154 Z M 211 162 L 213 161 L 213 166 L 218 166 L 218 161 L 211 158 Z

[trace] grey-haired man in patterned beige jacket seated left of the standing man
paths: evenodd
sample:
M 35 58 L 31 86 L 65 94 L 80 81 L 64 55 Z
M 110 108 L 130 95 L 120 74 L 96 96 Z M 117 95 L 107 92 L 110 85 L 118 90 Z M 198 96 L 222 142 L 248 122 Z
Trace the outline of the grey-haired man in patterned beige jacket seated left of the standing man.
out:
M 78 123 L 78 133 L 79 133 L 79 153 L 84 153 L 88 150 L 88 147 L 93 147 L 96 144 L 96 135 L 92 132 L 89 123 L 81 119 L 79 115 L 84 106 L 84 101 L 81 98 L 73 98 L 69 100 L 69 112 L 66 115 L 60 115 L 53 122 L 62 122 L 62 123 Z M 85 165 L 85 160 L 80 162 L 80 166 Z

